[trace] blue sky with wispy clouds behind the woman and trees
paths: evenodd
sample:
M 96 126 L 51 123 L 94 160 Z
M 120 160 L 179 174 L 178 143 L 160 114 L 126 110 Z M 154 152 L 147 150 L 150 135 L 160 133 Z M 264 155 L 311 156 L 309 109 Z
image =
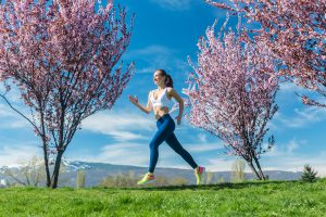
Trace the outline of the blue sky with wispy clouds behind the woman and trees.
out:
M 155 88 L 152 82 L 155 68 L 166 69 L 180 93 L 187 87 L 185 80 L 191 72 L 187 55 L 196 62 L 198 38 L 215 18 L 220 18 L 218 28 L 225 20 L 225 11 L 201 0 L 120 0 L 115 3 L 125 5 L 129 14 L 136 14 L 133 38 L 122 60 L 125 63 L 134 61 L 137 69 L 112 111 L 98 113 L 83 122 L 83 129 L 76 133 L 64 156 L 147 167 L 148 144 L 156 130 L 154 115 L 142 113 L 127 95 L 136 94 L 140 103 L 146 104 L 148 91 Z M 236 17 L 230 18 L 229 25 L 236 25 Z M 279 111 L 269 123 L 276 144 L 269 153 L 262 155 L 262 167 L 300 171 L 304 164 L 310 164 L 326 176 L 326 110 L 302 105 L 296 92 L 306 91 L 292 84 L 281 85 L 276 101 Z M 11 100 L 21 106 L 15 92 Z M 32 127 L 3 101 L 0 101 L 0 166 L 15 165 L 33 155 L 41 156 L 40 140 Z M 235 157 L 224 154 L 221 140 L 193 128 L 186 119 L 175 133 L 198 164 L 209 170 L 230 170 Z M 160 146 L 158 167 L 190 169 L 165 143 Z

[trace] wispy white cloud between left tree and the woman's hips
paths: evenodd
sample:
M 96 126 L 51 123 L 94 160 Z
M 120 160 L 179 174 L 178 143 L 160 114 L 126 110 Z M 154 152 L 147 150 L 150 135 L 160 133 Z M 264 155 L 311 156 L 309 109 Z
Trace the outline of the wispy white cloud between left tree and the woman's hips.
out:
M 155 129 L 154 122 L 138 114 L 102 112 L 97 113 L 82 123 L 85 130 L 112 136 L 117 141 L 135 139 L 149 139 L 138 131 L 151 131 Z

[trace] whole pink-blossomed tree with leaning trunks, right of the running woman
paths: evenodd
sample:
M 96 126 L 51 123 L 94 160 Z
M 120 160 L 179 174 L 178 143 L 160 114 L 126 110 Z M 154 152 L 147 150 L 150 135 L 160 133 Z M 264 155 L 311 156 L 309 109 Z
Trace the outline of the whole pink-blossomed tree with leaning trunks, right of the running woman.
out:
M 265 179 L 259 159 L 275 142 L 271 136 L 263 143 L 277 111 L 278 81 L 268 74 L 275 71 L 275 59 L 263 43 L 250 41 L 239 29 L 240 21 L 238 33 L 224 33 L 223 27 L 215 36 L 214 27 L 198 42 L 198 65 L 189 59 L 195 73 L 184 89 L 190 105 L 187 118 L 223 140 L 229 155 L 242 157 L 258 179 Z

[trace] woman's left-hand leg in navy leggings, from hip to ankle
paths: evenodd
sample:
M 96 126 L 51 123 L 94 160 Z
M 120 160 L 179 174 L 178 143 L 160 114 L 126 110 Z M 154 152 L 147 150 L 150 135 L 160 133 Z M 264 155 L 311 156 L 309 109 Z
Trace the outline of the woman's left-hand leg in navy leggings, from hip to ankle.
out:
M 150 166 L 148 171 L 154 173 L 158 159 L 159 159 L 159 145 L 173 132 L 173 126 L 168 119 L 164 120 L 162 124 L 158 124 L 159 130 L 151 140 L 150 146 Z

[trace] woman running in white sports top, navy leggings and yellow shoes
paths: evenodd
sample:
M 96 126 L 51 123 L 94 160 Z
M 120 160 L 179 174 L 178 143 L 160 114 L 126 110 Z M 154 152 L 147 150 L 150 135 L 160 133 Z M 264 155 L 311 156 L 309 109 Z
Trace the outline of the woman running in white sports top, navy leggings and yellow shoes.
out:
M 139 104 L 136 95 L 129 95 L 129 101 L 142 112 L 149 114 L 152 110 L 154 111 L 158 127 L 158 131 L 149 143 L 150 165 L 148 173 L 140 181 L 138 181 L 138 184 L 146 184 L 155 181 L 154 169 L 159 158 L 159 145 L 163 141 L 165 141 L 193 168 L 197 178 L 197 184 L 200 184 L 202 182 L 202 175 L 205 168 L 198 166 L 192 156 L 181 146 L 174 135 L 175 122 L 168 114 L 170 106 L 172 105 L 172 98 L 174 98 L 179 103 L 179 114 L 176 117 L 176 120 L 177 125 L 180 125 L 184 111 L 184 101 L 175 91 L 175 89 L 173 89 L 173 80 L 164 69 L 155 71 L 153 80 L 158 86 L 158 89 L 149 92 L 147 106 Z

